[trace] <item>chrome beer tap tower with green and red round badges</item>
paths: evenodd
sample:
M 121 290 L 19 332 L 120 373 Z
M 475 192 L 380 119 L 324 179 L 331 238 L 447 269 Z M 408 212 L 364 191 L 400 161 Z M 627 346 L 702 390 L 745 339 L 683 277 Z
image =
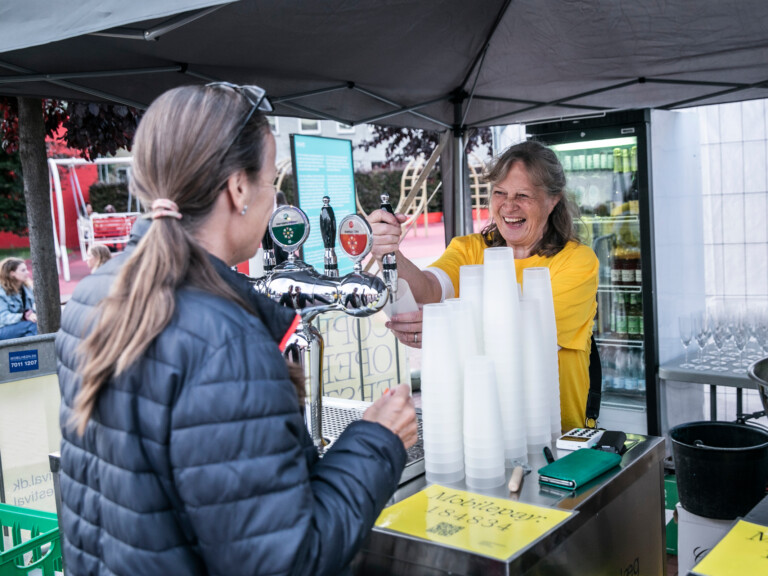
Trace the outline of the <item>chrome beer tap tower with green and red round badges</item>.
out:
M 291 302 L 301 317 L 283 354 L 304 367 L 307 375 L 304 417 L 313 443 L 322 451 L 328 445 L 322 434 L 324 344 L 312 320 L 332 311 L 358 318 L 375 314 L 387 303 L 390 288 L 380 278 L 362 271 L 361 262 L 373 245 L 373 232 L 365 218 L 350 214 L 341 221 L 338 234 L 341 248 L 355 263 L 354 270 L 342 277 L 339 277 L 334 251 L 336 219 L 327 196 L 323 198 L 320 214 L 325 246 L 324 274 L 296 257 L 295 252 L 306 241 L 309 230 L 309 219 L 300 208 L 280 206 L 275 210 L 267 230 L 270 238 L 264 244 L 266 276 L 255 282 L 254 289 L 275 302 Z M 274 264 L 272 243 L 288 253 L 285 262 Z

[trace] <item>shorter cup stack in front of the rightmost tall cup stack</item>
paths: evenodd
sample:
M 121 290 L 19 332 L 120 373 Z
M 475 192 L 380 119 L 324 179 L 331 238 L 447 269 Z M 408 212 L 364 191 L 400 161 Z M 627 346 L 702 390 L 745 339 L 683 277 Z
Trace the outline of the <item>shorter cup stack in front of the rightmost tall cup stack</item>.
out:
M 549 446 L 552 438 L 550 414 L 552 395 L 546 363 L 551 361 L 546 351 L 540 300 L 523 298 L 520 301 L 523 334 L 523 378 L 525 381 L 525 421 L 528 453 L 540 453 Z

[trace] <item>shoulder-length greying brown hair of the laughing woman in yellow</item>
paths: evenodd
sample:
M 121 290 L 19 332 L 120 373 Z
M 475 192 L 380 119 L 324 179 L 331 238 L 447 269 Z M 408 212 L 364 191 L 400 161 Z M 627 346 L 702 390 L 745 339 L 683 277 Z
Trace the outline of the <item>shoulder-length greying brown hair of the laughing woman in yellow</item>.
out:
M 535 140 L 526 140 L 507 148 L 490 165 L 484 174 L 486 182 L 495 186 L 504 180 L 512 166 L 520 162 L 525 166 L 534 186 L 542 188 L 549 196 L 558 198 L 544 227 L 544 235 L 531 252 L 538 256 L 554 256 L 568 242 L 579 242 L 573 221 L 578 208 L 565 193 L 565 172 L 555 153 Z M 490 204 L 490 199 L 488 201 Z M 506 246 L 506 240 L 493 220 L 482 230 L 486 246 Z

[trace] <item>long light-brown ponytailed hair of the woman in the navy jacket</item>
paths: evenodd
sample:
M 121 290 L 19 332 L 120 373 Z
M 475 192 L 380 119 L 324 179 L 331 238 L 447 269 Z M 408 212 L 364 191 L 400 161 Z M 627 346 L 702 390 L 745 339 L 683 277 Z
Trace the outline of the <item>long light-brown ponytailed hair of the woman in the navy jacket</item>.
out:
M 183 218 L 152 222 L 97 308 L 95 326 L 78 349 L 82 384 L 73 423 L 80 434 L 104 383 L 131 366 L 167 326 L 179 287 L 195 286 L 256 314 L 195 238 L 229 177 L 243 170 L 256 178 L 262 169 L 265 116 L 254 113 L 230 147 L 250 107 L 231 89 L 184 86 L 161 95 L 145 113 L 134 141 L 131 192 L 144 206 L 170 199 Z M 303 391 L 303 382 L 295 384 Z

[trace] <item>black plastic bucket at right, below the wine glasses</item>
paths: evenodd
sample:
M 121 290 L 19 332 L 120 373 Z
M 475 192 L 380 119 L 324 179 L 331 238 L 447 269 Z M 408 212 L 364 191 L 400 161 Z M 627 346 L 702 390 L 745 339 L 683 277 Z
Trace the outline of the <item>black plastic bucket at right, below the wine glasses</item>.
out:
M 768 431 L 730 422 L 689 422 L 669 431 L 680 504 L 688 512 L 733 520 L 765 496 Z

